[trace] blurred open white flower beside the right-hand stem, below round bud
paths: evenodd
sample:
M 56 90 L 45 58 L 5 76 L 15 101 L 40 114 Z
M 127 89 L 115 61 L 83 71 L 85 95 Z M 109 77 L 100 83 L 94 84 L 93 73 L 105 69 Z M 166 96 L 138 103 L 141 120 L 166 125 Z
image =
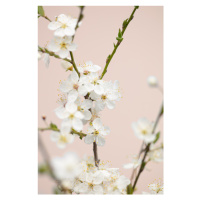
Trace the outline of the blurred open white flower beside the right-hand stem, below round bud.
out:
M 132 129 L 136 135 L 145 143 L 153 142 L 156 135 L 153 134 L 154 123 L 149 122 L 146 118 L 140 118 L 137 122 L 132 123 Z

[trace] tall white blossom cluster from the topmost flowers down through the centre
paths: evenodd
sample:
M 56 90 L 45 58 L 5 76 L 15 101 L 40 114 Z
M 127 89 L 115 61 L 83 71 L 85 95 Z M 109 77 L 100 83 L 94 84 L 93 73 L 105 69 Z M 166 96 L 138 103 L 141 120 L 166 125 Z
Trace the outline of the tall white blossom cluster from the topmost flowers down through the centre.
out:
M 69 52 L 77 48 L 73 43 L 76 26 L 77 19 L 64 14 L 50 22 L 48 28 L 54 30 L 54 38 L 48 44 L 48 50 L 62 59 L 70 59 Z M 52 141 L 55 141 L 58 147 L 64 148 L 66 144 L 74 141 L 74 133 L 82 133 L 84 125 L 88 125 L 85 143 L 96 142 L 97 145 L 103 146 L 110 129 L 103 125 L 100 112 L 105 107 L 113 109 L 116 101 L 120 100 L 119 82 L 101 80 L 101 67 L 91 61 L 79 64 L 76 70 L 70 62 L 63 60 L 61 65 L 71 73 L 67 80 L 60 82 L 60 106 L 55 113 L 62 123 L 59 132 L 51 133 Z

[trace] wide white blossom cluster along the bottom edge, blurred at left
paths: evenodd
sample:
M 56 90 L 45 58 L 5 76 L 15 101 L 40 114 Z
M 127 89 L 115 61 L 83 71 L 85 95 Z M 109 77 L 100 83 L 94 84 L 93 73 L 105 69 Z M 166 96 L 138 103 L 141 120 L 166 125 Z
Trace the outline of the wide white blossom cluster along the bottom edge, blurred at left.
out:
M 130 180 L 118 168 L 109 168 L 109 162 L 95 166 L 93 157 L 80 160 L 75 153 L 52 160 L 54 174 L 66 190 L 77 194 L 126 194 Z

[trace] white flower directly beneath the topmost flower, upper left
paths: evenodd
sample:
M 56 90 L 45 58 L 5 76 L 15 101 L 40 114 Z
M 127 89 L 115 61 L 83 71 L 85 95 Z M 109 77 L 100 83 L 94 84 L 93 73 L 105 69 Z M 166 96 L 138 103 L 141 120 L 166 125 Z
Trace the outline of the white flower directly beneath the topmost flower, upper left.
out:
M 69 51 L 75 51 L 77 45 L 72 43 L 72 37 L 54 37 L 47 46 L 49 51 L 57 53 L 61 58 L 67 58 Z

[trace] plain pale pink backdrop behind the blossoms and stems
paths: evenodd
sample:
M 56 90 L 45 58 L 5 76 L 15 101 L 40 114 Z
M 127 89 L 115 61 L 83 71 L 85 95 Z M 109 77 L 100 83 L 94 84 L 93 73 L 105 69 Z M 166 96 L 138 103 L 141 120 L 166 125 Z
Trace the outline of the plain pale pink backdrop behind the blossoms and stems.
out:
M 52 20 L 62 13 L 73 17 L 79 14 L 78 7 L 45 6 L 44 9 Z M 83 23 L 74 40 L 78 45 L 74 53 L 76 63 L 91 60 L 103 68 L 107 56 L 113 50 L 118 29 L 132 10 L 131 6 L 86 7 Z M 53 31 L 47 28 L 48 23 L 43 18 L 38 19 L 38 42 L 42 47 L 53 37 Z M 54 109 L 57 107 L 59 81 L 66 79 L 67 75 L 60 66 L 60 60 L 51 57 L 48 69 L 43 61 L 39 61 L 39 127 L 45 127 L 41 120 L 43 114 L 47 116 L 48 122 L 60 126 L 61 121 L 55 116 Z M 120 168 L 127 177 L 131 176 L 132 170 L 125 170 L 122 165 L 128 162 L 127 156 L 138 153 L 141 145 L 141 141 L 134 136 L 131 123 L 140 117 L 155 120 L 163 98 L 157 89 L 148 87 L 149 75 L 156 76 L 161 87 L 163 86 L 163 7 L 140 7 L 136 11 L 104 77 L 105 80 L 119 80 L 123 98 L 114 110 L 105 109 L 102 112 L 102 120 L 110 127 L 111 134 L 107 136 L 106 145 L 98 148 L 99 158 L 111 161 L 112 167 Z M 157 130 L 161 130 L 163 134 L 163 120 Z M 41 135 L 52 157 L 62 156 L 68 151 L 75 151 L 80 157 L 84 154 L 93 155 L 92 145 L 85 144 L 79 138 L 65 150 L 60 150 L 50 141 L 50 132 L 43 132 Z M 40 152 L 38 155 L 39 162 L 42 162 Z M 138 181 L 137 193 L 148 191 L 147 185 L 159 178 L 163 180 L 163 163 L 148 164 Z M 55 184 L 51 178 L 39 176 L 38 193 L 51 193 L 53 186 Z

